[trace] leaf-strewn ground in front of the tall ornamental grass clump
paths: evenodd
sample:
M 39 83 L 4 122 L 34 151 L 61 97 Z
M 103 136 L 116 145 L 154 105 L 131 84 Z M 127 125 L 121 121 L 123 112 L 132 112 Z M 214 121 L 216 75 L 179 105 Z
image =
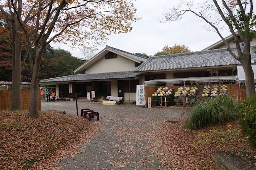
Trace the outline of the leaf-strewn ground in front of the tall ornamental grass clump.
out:
M 179 123 L 159 123 L 158 133 L 152 136 L 156 141 L 148 146 L 155 155 L 159 155 L 165 166 L 173 169 L 215 169 L 213 155 L 218 150 L 256 154 L 237 120 L 195 131 L 185 129 L 183 119 L 176 120 Z

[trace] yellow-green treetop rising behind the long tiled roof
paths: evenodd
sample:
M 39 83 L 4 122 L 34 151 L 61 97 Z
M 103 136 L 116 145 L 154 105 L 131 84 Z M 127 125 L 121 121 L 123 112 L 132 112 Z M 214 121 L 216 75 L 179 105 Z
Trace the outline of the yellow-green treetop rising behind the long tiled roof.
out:
M 155 56 L 168 55 L 168 54 L 177 54 L 177 53 L 188 53 L 188 52 L 191 52 L 191 50 L 189 49 L 188 46 L 185 46 L 185 45 L 175 44 L 172 47 L 169 47 L 169 46 L 166 45 L 162 48 L 162 51 L 159 51 L 159 52 L 155 53 Z

